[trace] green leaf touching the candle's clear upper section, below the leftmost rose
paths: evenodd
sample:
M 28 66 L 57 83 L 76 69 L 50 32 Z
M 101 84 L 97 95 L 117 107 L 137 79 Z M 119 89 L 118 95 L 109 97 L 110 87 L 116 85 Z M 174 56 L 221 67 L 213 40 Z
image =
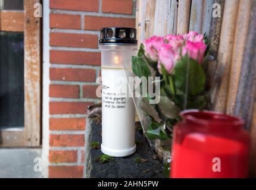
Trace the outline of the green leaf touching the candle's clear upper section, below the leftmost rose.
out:
M 138 77 L 149 77 L 151 74 L 148 65 L 142 57 L 132 56 L 132 71 Z

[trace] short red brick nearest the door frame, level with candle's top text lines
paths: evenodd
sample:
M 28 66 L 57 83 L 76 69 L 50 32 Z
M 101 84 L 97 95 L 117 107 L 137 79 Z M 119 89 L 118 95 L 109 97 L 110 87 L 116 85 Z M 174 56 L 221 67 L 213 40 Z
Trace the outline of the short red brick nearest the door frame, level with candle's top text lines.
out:
M 50 85 L 50 97 L 79 98 L 79 85 Z

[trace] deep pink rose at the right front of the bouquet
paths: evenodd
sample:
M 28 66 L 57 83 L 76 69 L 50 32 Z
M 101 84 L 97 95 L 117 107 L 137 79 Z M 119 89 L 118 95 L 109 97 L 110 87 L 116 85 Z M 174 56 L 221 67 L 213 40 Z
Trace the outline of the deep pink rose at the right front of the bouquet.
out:
M 199 64 L 204 61 L 204 53 L 207 46 L 204 42 L 191 42 L 187 41 L 186 46 L 182 49 L 182 55 L 185 56 L 187 53 L 190 58 L 195 59 Z

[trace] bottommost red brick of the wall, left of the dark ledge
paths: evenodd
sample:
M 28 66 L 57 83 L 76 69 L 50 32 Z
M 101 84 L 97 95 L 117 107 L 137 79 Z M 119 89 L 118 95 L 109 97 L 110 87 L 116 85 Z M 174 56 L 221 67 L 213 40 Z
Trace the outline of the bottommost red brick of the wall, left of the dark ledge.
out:
M 49 178 L 83 178 L 83 166 L 49 166 Z

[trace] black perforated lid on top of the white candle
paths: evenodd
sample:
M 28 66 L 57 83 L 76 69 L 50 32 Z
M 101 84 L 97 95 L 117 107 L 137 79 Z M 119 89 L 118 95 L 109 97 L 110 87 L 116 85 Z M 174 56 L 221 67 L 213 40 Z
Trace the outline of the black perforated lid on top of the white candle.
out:
M 136 29 L 126 27 L 103 28 L 101 29 L 101 39 L 99 39 L 99 43 L 124 43 L 136 45 L 138 43 L 138 40 L 136 39 Z

